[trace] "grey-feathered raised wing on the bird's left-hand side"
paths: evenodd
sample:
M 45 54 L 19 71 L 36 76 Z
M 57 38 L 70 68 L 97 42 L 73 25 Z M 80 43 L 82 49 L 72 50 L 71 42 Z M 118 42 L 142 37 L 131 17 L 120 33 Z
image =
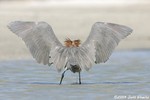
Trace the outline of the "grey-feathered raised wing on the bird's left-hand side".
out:
M 46 22 L 14 21 L 8 28 L 23 39 L 38 63 L 48 64 L 51 49 L 62 46 Z

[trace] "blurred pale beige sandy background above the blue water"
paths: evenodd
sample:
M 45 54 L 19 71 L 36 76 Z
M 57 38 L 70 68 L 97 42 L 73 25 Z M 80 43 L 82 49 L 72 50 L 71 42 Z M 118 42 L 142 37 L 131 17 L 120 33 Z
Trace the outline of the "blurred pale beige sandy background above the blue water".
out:
M 24 42 L 9 31 L 11 21 L 45 21 L 58 39 L 85 41 L 97 21 L 131 27 L 116 50 L 150 48 L 149 0 L 0 0 L 0 59 L 30 58 Z

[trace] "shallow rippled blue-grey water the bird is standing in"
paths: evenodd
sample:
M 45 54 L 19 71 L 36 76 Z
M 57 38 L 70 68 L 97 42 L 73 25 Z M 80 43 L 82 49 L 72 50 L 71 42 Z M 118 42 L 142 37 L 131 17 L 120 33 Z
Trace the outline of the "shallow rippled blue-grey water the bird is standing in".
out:
M 150 51 L 114 52 L 107 63 L 83 71 L 81 85 L 78 74 L 70 71 L 58 85 L 61 73 L 32 59 L 1 61 L 0 100 L 150 100 L 149 55 Z

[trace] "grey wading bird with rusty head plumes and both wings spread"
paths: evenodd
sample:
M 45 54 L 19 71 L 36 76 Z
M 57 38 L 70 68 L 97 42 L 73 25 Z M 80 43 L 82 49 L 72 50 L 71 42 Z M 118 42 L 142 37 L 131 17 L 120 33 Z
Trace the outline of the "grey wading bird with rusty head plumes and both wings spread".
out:
M 22 38 L 38 63 L 53 64 L 58 72 L 63 70 L 59 84 L 67 70 L 79 73 L 78 84 L 81 84 L 81 71 L 105 63 L 119 42 L 133 31 L 125 25 L 95 22 L 83 43 L 67 38 L 63 45 L 47 22 L 12 21 L 7 26 Z

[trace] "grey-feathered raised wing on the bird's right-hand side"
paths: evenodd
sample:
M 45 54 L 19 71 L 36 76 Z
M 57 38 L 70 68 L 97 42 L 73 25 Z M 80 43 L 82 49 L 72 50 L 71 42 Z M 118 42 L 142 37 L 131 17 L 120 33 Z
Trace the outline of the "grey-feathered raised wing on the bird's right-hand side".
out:
M 95 63 L 106 62 L 120 40 L 131 32 L 132 29 L 124 25 L 96 22 L 81 47 L 88 50 Z

